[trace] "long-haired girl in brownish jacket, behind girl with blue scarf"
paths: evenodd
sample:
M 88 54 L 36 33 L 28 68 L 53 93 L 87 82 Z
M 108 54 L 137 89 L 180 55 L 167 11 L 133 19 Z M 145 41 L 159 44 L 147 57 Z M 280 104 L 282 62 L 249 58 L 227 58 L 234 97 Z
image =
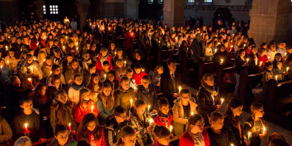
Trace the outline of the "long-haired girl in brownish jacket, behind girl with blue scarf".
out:
M 72 59 L 70 64 L 68 65 L 68 69 L 65 72 L 65 80 L 68 88 L 70 88 L 74 82 L 74 76 L 79 74 L 82 81 L 84 80 L 84 71 L 79 65 L 79 61 L 77 59 Z

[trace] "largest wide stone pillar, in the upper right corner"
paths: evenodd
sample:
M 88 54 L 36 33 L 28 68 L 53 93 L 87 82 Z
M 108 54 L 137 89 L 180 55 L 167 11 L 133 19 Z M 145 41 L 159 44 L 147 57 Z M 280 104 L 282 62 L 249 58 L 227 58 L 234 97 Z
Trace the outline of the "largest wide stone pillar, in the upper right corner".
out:
M 286 40 L 290 4 L 290 0 L 253 0 L 249 11 L 249 38 L 258 46 L 271 40 Z

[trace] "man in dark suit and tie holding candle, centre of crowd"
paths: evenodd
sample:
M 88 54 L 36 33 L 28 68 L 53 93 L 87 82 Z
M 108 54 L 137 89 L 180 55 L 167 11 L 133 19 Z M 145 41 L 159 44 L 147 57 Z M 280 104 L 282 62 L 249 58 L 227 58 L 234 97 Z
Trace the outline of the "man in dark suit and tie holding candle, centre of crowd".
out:
M 173 100 L 179 97 L 179 86 L 182 86 L 182 79 L 179 72 L 175 72 L 175 60 L 167 61 L 168 71 L 164 72 L 160 78 L 160 91 L 168 100 L 169 105 L 173 106 Z

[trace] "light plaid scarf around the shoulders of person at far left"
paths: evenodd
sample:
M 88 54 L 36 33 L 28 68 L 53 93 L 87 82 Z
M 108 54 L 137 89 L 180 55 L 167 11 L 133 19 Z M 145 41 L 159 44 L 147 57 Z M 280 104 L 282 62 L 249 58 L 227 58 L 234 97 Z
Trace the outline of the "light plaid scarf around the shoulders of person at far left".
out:
M 41 66 L 35 60 L 33 60 L 31 64 L 28 64 L 25 60 L 23 60 L 21 62 L 19 69 L 18 69 L 18 72 L 20 72 L 20 76 L 21 75 L 25 76 L 29 73 L 35 73 L 39 80 L 43 79 L 43 73 L 41 72 Z

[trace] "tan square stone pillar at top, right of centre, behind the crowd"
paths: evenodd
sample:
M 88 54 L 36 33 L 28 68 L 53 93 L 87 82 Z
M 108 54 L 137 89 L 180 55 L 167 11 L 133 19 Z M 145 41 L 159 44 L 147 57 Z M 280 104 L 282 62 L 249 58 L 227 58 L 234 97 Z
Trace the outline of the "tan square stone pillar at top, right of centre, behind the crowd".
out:
M 164 24 L 167 24 L 168 27 L 184 25 L 185 1 L 164 0 L 163 3 Z

